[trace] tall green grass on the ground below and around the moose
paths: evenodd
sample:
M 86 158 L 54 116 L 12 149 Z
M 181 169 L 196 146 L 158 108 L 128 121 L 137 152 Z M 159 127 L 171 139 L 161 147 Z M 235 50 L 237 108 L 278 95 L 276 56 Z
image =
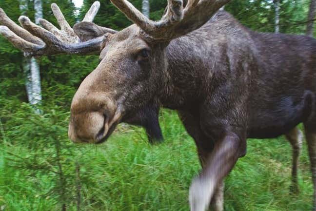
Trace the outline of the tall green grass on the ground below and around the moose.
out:
M 77 210 L 76 185 L 73 184 L 76 162 L 80 166 L 82 211 L 189 210 L 188 189 L 200 166 L 194 141 L 175 112 L 163 110 L 160 124 L 165 141 L 155 146 L 147 143 L 142 129 L 126 126 L 120 127 L 104 144 L 73 145 L 66 134 L 69 114 L 46 112 L 50 115 L 39 118 L 22 115 L 26 112 L 3 117 L 0 210 L 60 210 L 58 194 L 49 193 L 58 185 L 56 174 L 21 169 L 19 165 L 27 163 L 37 141 L 45 143 L 40 141 L 42 139 L 47 141 L 47 147 L 41 148 L 44 149 L 42 153 L 54 152 L 51 150 L 53 138 L 59 138 L 70 152 L 65 150 L 61 156 L 64 173 L 69 177 L 65 187 L 67 210 Z M 17 123 L 19 119 L 21 124 Z M 26 144 L 30 142 L 28 137 L 35 143 Z M 290 194 L 290 144 L 284 137 L 248 140 L 247 155 L 238 160 L 226 179 L 225 211 L 311 210 L 313 188 L 305 142 L 303 146 L 299 165 L 300 192 Z M 15 155 L 25 160 L 17 161 Z M 49 157 L 37 159 L 41 164 L 49 161 Z

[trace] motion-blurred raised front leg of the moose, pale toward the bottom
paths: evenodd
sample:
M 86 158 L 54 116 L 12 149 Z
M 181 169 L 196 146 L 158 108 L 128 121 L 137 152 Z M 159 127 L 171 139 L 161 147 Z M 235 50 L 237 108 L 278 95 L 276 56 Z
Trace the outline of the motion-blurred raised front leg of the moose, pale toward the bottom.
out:
M 237 162 L 239 147 L 240 139 L 234 133 L 227 133 L 215 143 L 214 150 L 205 159 L 205 168 L 191 184 L 189 191 L 191 211 L 206 211 L 218 184 Z

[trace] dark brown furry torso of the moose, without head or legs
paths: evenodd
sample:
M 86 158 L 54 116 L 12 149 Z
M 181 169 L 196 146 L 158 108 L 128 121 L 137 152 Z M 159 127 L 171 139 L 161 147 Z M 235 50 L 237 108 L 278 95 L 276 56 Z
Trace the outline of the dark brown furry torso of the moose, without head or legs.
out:
M 314 38 L 253 32 L 219 11 L 168 45 L 170 84 L 159 99 L 196 116 L 210 141 L 226 127 L 244 141 L 277 137 L 315 118 L 315 53 Z

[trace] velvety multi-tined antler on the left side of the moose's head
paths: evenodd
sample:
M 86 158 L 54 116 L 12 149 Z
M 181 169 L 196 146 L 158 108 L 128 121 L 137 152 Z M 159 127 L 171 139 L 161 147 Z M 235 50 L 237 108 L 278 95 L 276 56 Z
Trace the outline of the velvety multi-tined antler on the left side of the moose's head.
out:
M 95 18 L 100 7 L 99 1 L 95 1 L 86 13 L 83 21 L 91 22 Z M 93 38 L 84 42 L 75 34 L 57 4 L 51 5 L 60 30 L 45 19 L 40 19 L 40 27 L 29 18 L 21 16 L 20 27 L 12 21 L 0 8 L 0 34 L 7 38 L 15 47 L 24 52 L 24 56 L 41 56 L 55 54 L 93 54 L 99 53 L 103 37 Z

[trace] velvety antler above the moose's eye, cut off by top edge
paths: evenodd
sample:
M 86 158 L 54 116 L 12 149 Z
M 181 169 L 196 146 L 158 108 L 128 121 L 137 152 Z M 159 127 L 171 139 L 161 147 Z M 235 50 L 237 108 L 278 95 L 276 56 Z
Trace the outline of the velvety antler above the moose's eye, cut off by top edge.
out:
M 218 9 L 230 0 L 168 0 L 164 16 L 157 22 L 148 19 L 127 0 L 111 0 L 112 3 L 154 39 L 171 40 L 201 27 Z

